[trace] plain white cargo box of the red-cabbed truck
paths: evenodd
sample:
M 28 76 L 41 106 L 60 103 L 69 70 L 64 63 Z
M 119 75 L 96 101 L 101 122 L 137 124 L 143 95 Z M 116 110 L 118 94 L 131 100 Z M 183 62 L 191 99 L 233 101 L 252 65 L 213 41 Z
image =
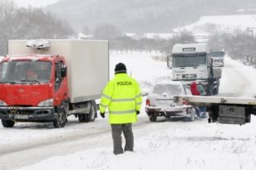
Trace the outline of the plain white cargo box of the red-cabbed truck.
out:
M 109 80 L 108 41 L 51 39 L 49 47 L 26 47 L 29 40 L 10 40 L 10 56 L 46 54 L 64 56 L 71 103 L 95 100 L 100 97 Z

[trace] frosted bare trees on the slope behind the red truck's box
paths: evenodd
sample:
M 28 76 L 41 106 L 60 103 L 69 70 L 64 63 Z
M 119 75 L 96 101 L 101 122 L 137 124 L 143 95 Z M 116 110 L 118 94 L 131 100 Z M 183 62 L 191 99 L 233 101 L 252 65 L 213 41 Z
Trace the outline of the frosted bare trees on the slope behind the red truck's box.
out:
M 6 12 L 0 20 L 0 55 L 7 53 L 9 39 L 68 38 L 74 33 L 68 23 L 50 13 L 37 8 L 16 9 L 11 4 L 1 3 Z

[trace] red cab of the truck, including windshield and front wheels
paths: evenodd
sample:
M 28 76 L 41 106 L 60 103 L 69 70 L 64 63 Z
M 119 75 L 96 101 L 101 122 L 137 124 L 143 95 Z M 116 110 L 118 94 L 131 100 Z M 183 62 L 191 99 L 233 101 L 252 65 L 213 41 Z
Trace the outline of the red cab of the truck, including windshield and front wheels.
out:
M 16 121 L 64 127 L 69 100 L 64 57 L 5 56 L 0 62 L 0 94 L 3 127 L 11 128 Z

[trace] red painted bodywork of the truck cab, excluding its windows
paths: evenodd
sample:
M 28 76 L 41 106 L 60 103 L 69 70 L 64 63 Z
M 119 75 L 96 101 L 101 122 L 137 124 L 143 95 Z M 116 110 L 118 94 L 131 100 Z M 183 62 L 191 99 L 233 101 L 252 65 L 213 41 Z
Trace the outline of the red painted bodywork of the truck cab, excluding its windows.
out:
M 52 72 L 48 83 L 33 84 L 11 84 L 0 83 L 0 100 L 5 101 L 7 105 L 27 105 L 37 106 L 41 101 L 53 99 L 53 105 L 61 105 L 62 101 L 69 98 L 67 78 L 62 79 L 61 86 L 55 91 L 55 63 L 62 60 L 62 56 L 48 55 L 26 55 L 26 56 L 7 56 L 2 62 L 8 60 L 42 60 L 52 62 Z

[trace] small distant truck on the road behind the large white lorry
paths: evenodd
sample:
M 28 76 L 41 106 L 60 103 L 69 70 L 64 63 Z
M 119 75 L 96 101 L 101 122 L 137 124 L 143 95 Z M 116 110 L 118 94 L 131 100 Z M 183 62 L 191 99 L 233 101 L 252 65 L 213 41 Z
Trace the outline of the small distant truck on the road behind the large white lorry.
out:
M 223 67 L 224 66 L 224 56 L 225 56 L 224 49 L 210 50 L 209 56 L 213 59 L 214 67 Z

